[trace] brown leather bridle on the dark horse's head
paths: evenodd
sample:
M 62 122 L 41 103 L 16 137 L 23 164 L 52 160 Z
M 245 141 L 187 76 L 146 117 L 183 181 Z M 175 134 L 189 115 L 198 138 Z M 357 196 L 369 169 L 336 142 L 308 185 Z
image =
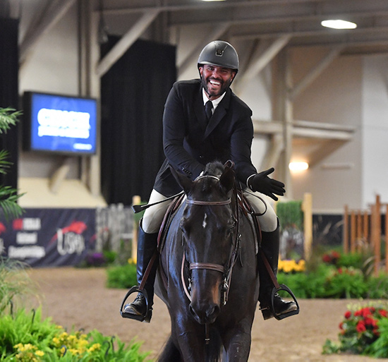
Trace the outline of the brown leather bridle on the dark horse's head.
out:
M 212 176 L 212 175 L 200 176 L 198 179 L 202 179 L 205 177 L 210 177 L 213 179 L 217 179 L 217 181 L 219 181 L 218 177 Z M 228 199 L 222 200 L 222 201 L 192 200 L 192 199 L 187 198 L 186 204 L 210 206 L 210 207 L 222 206 L 222 205 L 231 204 L 231 198 L 228 198 Z M 233 267 L 236 263 L 236 260 L 238 258 L 238 248 L 240 246 L 240 243 L 239 243 L 240 234 L 238 233 L 238 207 L 237 207 L 237 205 L 236 205 L 236 215 L 234 215 L 234 212 L 232 210 L 232 217 L 234 218 L 234 226 L 233 226 L 234 232 L 231 235 L 232 251 L 231 251 L 231 256 L 229 258 L 229 262 L 227 263 L 227 266 L 216 264 L 216 263 L 198 263 L 198 262 L 190 263 L 190 262 L 186 261 L 186 252 L 183 251 L 183 259 L 182 259 L 182 267 L 181 267 L 181 279 L 182 279 L 183 289 L 186 293 L 186 296 L 188 297 L 188 299 L 190 301 L 191 301 L 191 296 L 190 296 L 191 277 L 190 277 L 190 275 L 188 277 L 188 283 L 189 283 L 188 287 L 186 287 L 186 281 L 185 281 L 185 277 L 184 277 L 184 270 L 185 270 L 185 266 L 187 266 L 187 265 L 188 265 L 188 271 L 189 271 L 188 274 L 190 274 L 190 272 L 192 270 L 201 270 L 201 269 L 202 270 L 214 270 L 216 272 L 221 272 L 224 276 L 224 282 L 222 285 L 221 303 L 222 303 L 222 305 L 226 304 L 226 301 L 228 300 L 228 294 L 229 294 L 231 273 L 232 273 Z M 185 236 L 183 233 L 182 233 L 182 243 L 183 243 L 183 246 L 186 246 Z

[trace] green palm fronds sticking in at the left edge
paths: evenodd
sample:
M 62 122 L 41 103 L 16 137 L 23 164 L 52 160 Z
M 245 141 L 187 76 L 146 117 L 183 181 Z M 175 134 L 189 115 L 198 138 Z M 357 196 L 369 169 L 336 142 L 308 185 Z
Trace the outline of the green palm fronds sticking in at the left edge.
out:
M 0 133 L 6 133 L 11 126 L 18 122 L 21 112 L 12 108 L 0 108 Z M 6 174 L 11 162 L 8 161 L 9 154 L 6 150 L 0 150 L 0 174 Z M 18 205 L 18 198 L 23 194 L 18 194 L 18 190 L 11 186 L 0 185 L 0 208 L 8 220 L 16 218 L 23 213 L 23 208 Z

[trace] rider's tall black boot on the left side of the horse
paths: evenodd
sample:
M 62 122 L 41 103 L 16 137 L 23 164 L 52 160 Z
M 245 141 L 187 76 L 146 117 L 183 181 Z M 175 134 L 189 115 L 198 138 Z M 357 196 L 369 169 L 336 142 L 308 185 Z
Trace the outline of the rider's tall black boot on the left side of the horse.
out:
M 139 232 L 138 232 L 138 260 L 137 260 L 137 279 L 138 286 L 143 281 L 145 270 L 147 270 L 148 263 L 157 250 L 157 235 L 158 233 L 147 234 L 140 221 Z M 154 281 L 157 272 L 157 259 L 154 260 L 154 264 L 148 274 L 147 280 L 145 281 L 144 289 L 147 291 L 148 300 L 148 313 L 147 313 L 147 301 L 145 296 L 138 293 L 135 300 L 132 303 L 124 306 L 124 312 L 132 315 L 143 316 L 145 322 L 150 322 L 152 317 L 152 304 L 154 303 Z M 134 318 L 138 319 L 138 318 Z M 143 319 L 143 318 L 142 318 Z

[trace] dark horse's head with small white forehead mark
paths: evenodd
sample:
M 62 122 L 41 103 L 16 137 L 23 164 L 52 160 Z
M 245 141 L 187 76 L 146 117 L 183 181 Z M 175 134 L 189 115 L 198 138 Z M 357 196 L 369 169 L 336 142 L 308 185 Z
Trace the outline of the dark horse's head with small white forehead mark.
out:
M 195 181 L 178 176 L 178 182 L 187 196 L 181 230 L 190 280 L 190 312 L 201 324 L 212 323 L 228 288 L 236 245 L 231 201 L 234 171 L 214 162 Z

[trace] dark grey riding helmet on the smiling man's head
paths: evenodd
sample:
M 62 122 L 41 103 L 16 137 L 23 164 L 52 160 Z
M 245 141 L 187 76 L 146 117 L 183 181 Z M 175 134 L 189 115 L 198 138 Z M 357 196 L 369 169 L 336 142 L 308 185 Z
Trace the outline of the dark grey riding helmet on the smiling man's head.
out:
M 203 64 L 212 66 L 223 66 L 231 68 L 236 73 L 238 72 L 238 54 L 236 49 L 228 42 L 222 40 L 214 40 L 202 49 L 198 57 L 198 70 Z

